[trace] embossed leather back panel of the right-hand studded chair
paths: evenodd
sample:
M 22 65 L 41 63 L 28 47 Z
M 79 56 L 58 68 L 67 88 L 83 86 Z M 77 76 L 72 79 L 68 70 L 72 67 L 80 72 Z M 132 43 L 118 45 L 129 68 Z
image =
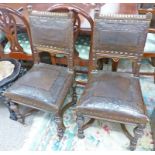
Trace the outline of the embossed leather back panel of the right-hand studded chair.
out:
M 102 17 L 100 18 L 102 19 Z M 105 20 L 100 18 L 95 20 L 96 25 L 94 27 L 93 44 L 96 55 L 102 53 L 105 56 L 119 58 L 128 58 L 129 56 L 137 58 L 143 55 L 147 35 L 146 29 L 150 24 L 149 19 L 145 22 L 142 22 L 143 19 L 135 22 L 135 19 L 132 18 L 127 21 L 121 19 L 119 15 L 118 17 L 117 15 L 111 17 L 113 19 L 118 18 L 118 20 L 110 21 L 110 15 L 107 17 L 105 15 Z

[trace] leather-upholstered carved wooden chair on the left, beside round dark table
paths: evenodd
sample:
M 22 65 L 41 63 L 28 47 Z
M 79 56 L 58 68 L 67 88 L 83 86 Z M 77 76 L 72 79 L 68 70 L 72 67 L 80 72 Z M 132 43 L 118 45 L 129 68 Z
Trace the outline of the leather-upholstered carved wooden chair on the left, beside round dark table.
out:
M 24 118 L 18 104 L 53 112 L 58 136 L 62 138 L 65 129 L 63 103 L 74 81 L 72 13 L 39 12 L 29 7 L 29 22 L 35 64 L 5 92 L 5 96 L 10 100 L 10 109 L 22 123 Z M 64 54 L 68 66 L 39 63 L 42 51 L 51 56 Z

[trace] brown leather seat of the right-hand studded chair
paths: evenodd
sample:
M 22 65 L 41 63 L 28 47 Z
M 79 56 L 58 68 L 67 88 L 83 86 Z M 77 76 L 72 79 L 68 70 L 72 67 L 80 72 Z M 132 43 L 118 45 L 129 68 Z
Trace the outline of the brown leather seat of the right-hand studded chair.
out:
M 146 123 L 139 79 L 127 73 L 92 74 L 77 112 L 117 122 Z

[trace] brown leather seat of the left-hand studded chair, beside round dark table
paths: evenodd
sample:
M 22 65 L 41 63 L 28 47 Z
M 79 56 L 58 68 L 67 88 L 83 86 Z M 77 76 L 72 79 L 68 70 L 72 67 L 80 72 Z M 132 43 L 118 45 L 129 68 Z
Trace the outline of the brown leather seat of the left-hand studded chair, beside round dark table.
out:
M 56 112 L 73 82 L 66 67 L 36 64 L 10 87 L 5 96 L 16 103 Z

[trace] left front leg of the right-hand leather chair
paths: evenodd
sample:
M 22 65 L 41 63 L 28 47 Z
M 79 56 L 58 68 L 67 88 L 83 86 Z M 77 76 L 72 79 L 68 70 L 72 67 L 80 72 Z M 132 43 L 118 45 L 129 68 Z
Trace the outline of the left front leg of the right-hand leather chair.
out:
M 78 125 L 78 137 L 83 139 L 84 131 L 83 131 L 84 117 L 82 115 L 77 115 L 77 125 Z

